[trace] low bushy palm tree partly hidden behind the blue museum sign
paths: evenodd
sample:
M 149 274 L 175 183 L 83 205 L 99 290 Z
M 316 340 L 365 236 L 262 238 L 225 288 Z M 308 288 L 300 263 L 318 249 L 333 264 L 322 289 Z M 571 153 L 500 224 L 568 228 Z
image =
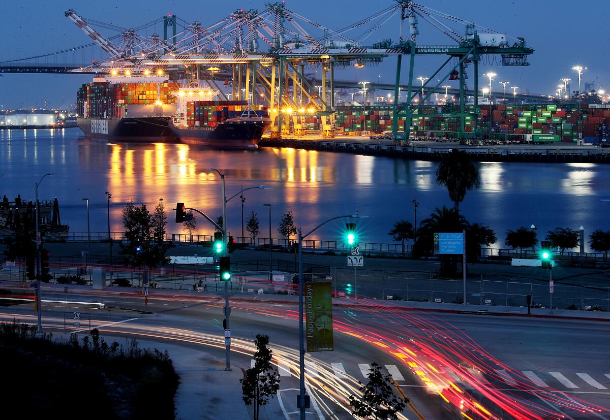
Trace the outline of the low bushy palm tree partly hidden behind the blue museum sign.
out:
M 436 208 L 429 218 L 422 220 L 417 229 L 417 240 L 413 245 L 414 257 L 432 255 L 434 252 L 434 233 L 462 232 L 468 229 L 468 221 L 458 214 L 455 208 Z M 440 272 L 447 276 L 455 276 L 458 272 L 457 263 L 460 258 L 452 255 L 439 255 Z

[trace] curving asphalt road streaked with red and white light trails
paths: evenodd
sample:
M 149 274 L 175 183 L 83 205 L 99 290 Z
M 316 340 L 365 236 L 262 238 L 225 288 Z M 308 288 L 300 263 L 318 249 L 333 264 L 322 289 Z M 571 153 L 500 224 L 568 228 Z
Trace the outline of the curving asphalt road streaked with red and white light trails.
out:
M 147 309 L 156 316 L 122 313 L 116 318 L 91 306 L 87 311 L 93 313 L 92 323 L 101 326 L 104 335 L 177 344 L 205 351 L 224 365 L 223 302 L 212 294 L 151 291 L 145 306 L 142 296 L 112 291 L 71 287 L 65 294 L 63 288 L 50 286 L 43 293 L 46 300 L 57 301 L 47 304 L 50 313 L 43 312 L 45 328 L 63 329 L 63 311 L 82 307 L 64 304 L 65 299 Z M 298 389 L 296 305 L 266 302 L 265 296 L 236 295 L 231 307 L 232 363 L 248 368 L 254 336 L 270 335 L 282 391 L 267 412 L 270 418 L 295 418 L 289 413 L 296 411 Z M 0 310 L 2 319 L 15 316 L 35 322 L 30 305 Z M 464 401 L 467 416 L 473 419 L 493 415 L 610 419 L 610 362 L 605 354 L 610 339 L 603 327 L 605 323 L 593 321 L 435 315 L 370 304 L 336 305 L 335 351 L 307 354 L 309 393 L 317 403 L 308 418 L 351 418 L 347 397 L 376 362 L 411 399 L 407 418 L 459 418 L 450 412 L 459 411 Z M 239 394 L 236 382 L 231 392 Z

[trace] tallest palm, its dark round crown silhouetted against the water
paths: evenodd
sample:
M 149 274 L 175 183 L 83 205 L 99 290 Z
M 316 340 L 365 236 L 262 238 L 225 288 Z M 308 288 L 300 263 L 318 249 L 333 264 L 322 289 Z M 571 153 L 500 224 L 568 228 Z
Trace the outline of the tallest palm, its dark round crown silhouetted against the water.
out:
M 436 169 L 436 182 L 447 188 L 449 198 L 459 213 L 459 204 L 467 191 L 479 186 L 479 170 L 465 151 L 453 149 Z

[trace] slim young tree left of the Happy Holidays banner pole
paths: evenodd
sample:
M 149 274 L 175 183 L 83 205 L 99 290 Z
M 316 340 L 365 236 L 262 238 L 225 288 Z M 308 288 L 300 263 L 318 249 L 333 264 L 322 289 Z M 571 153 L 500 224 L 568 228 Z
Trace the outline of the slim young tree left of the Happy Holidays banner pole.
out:
M 256 353 L 254 353 L 254 367 L 248 369 L 242 384 L 242 399 L 246 405 L 253 405 L 254 420 L 259 419 L 259 407 L 267 405 L 269 397 L 273 398 L 279 390 L 278 371 L 271 366 L 273 351 L 268 346 L 269 337 L 257 334 L 254 340 Z

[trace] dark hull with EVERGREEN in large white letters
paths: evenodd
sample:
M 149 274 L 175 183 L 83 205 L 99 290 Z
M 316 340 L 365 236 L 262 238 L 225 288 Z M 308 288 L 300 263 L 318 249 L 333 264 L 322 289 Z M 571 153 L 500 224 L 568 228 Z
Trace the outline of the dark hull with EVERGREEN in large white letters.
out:
M 77 118 L 76 122 L 85 133 L 85 137 L 88 138 L 140 143 L 178 141 L 176 135 L 170 130 L 170 117 L 168 116 L 113 119 Z

